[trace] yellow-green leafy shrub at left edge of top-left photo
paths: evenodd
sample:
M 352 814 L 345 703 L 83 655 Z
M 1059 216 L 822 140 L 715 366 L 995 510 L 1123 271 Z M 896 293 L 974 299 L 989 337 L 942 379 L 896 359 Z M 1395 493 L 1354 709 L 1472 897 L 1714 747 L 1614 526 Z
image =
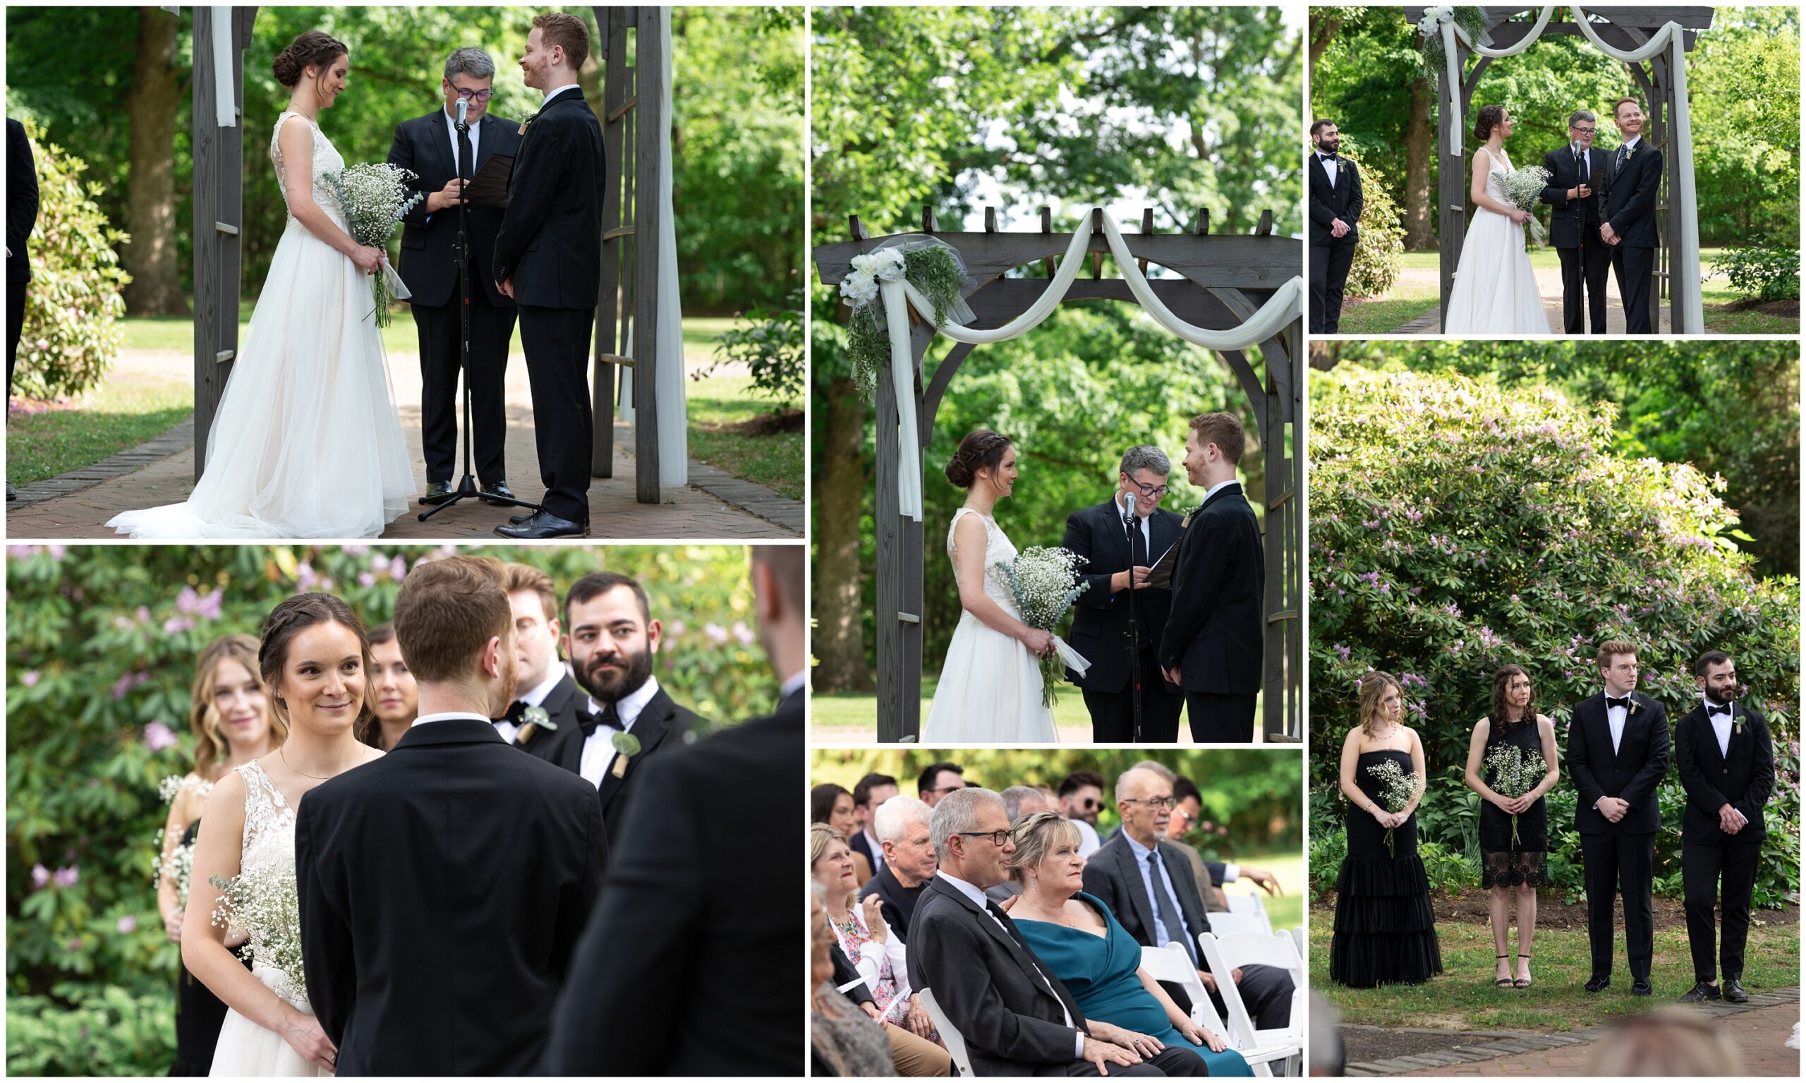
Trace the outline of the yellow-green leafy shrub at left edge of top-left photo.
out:
M 125 283 L 117 245 L 130 240 L 94 204 L 99 184 L 54 143 L 40 144 L 23 121 L 38 161 L 38 224 L 31 231 L 31 285 L 18 341 L 14 390 L 33 399 L 79 395 L 101 383 L 125 343 Z

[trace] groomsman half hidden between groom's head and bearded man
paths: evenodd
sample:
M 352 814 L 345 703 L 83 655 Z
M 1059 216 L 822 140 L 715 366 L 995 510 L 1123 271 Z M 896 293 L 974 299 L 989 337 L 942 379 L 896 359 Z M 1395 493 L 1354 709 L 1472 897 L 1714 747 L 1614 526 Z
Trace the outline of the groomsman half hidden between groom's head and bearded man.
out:
M 502 740 L 549 764 L 563 764 L 571 745 L 583 744 L 583 693 L 558 661 L 558 592 L 553 578 L 527 565 L 502 565 L 502 587 L 515 614 L 515 657 L 520 662 L 517 699 L 495 720 Z M 545 718 L 531 717 L 533 708 Z

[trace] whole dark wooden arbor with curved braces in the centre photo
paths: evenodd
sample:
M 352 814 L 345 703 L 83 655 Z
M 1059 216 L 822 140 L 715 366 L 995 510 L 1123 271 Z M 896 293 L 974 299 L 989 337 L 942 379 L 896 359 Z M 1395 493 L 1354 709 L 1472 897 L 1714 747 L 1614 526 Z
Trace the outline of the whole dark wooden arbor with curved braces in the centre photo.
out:
M 827 285 L 838 285 L 851 271 L 852 256 L 869 253 L 889 238 L 870 238 L 858 217 L 849 218 L 852 240 L 815 249 L 815 264 Z M 1154 233 L 1154 213 L 1141 213 L 1141 233 L 1125 235 L 1129 251 L 1145 271 L 1159 264 L 1181 278 L 1158 278 L 1149 285 L 1181 319 L 1197 327 L 1228 329 L 1252 316 L 1280 285 L 1299 276 L 1304 249 L 1295 238 L 1273 236 L 1273 213 L 1261 215 L 1257 233 L 1246 236 L 1210 235 L 1208 211 L 1201 211 L 1190 231 Z M 1047 289 L 1055 258 L 1071 236 L 1057 235 L 1047 208 L 1040 208 L 1038 233 L 999 233 L 995 209 L 984 211 L 982 233 L 943 233 L 934 213 L 923 208 L 921 231 L 954 245 L 966 264 L 972 285 L 966 303 L 975 327 L 1002 327 L 1028 310 Z M 1107 298 L 1134 303 L 1122 278 L 1100 278 L 1109 242 L 1102 211 L 1091 217 L 1091 278 L 1078 278 L 1064 301 Z M 1044 264 L 1047 278 L 1004 278 L 1026 264 Z M 1062 303 L 1064 303 L 1062 301 Z M 914 740 L 921 733 L 921 610 L 923 610 L 923 523 L 898 511 L 898 464 L 903 455 L 921 460 L 934 431 L 934 415 L 959 372 L 972 345 L 948 350 L 934 374 L 923 381 L 925 357 L 936 334 L 928 321 L 917 321 L 910 334 L 914 347 L 914 395 L 919 433 L 914 446 L 898 446 L 898 408 L 889 368 L 878 384 L 878 740 Z M 1302 735 L 1302 532 L 1299 500 L 1304 491 L 1302 422 L 1304 325 L 1261 343 L 1257 372 L 1244 352 L 1223 352 L 1235 374 L 1259 424 L 1266 453 L 1266 671 L 1262 675 L 1264 729 L 1270 738 L 1299 740 Z

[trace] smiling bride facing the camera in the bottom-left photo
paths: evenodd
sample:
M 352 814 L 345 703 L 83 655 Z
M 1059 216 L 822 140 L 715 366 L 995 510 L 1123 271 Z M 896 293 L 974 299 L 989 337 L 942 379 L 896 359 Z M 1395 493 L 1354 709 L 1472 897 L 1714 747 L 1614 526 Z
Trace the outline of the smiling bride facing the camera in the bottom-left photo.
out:
M 383 753 L 354 736 L 368 709 L 370 646 L 343 601 L 298 594 L 264 623 L 264 680 L 271 715 L 287 738 L 213 785 L 200 818 L 191 872 L 197 902 L 182 915 L 182 962 L 226 1002 L 213 1076 L 330 1076 L 338 1051 L 307 1004 L 300 973 L 284 973 L 251 931 L 251 969 L 213 924 L 211 877 L 275 866 L 294 875 L 294 810 L 321 782 Z M 213 904 L 199 904 L 199 901 Z

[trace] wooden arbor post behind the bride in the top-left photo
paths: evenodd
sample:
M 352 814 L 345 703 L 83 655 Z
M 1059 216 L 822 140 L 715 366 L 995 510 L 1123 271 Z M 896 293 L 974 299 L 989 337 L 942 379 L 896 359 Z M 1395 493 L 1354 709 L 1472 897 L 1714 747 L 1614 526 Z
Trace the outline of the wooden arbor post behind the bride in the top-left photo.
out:
M 231 70 L 213 65 L 213 13 L 195 7 L 195 480 L 208 460 L 208 433 L 213 412 L 238 356 L 238 292 L 244 245 L 244 51 L 251 45 L 256 7 L 233 7 Z M 238 103 L 238 123 L 222 128 L 215 110 L 215 88 L 229 81 Z

